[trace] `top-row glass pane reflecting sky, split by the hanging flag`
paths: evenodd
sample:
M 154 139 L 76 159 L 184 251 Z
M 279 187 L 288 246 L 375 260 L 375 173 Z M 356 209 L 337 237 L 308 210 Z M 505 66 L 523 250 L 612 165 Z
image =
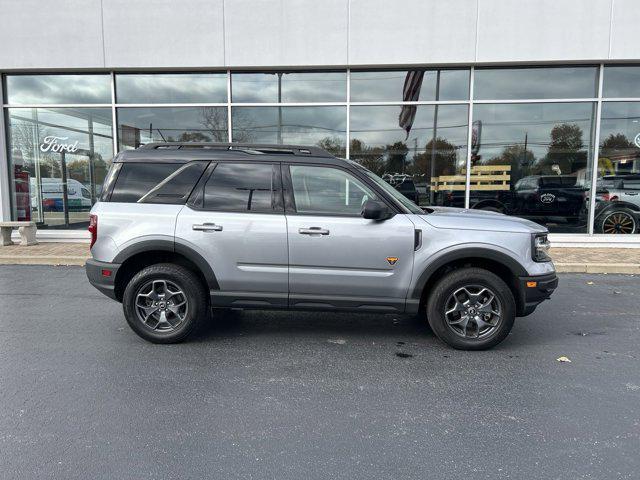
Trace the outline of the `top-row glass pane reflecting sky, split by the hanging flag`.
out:
M 406 70 L 352 71 L 352 102 L 401 102 Z M 427 70 L 420 88 L 421 101 L 436 100 L 437 71 Z M 438 100 L 469 98 L 469 70 L 441 70 Z

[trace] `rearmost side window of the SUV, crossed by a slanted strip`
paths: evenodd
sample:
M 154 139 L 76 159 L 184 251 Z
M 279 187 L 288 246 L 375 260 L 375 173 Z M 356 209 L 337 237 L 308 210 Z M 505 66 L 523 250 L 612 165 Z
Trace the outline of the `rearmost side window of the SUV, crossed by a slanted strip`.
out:
M 111 202 L 184 204 L 207 162 L 124 163 Z

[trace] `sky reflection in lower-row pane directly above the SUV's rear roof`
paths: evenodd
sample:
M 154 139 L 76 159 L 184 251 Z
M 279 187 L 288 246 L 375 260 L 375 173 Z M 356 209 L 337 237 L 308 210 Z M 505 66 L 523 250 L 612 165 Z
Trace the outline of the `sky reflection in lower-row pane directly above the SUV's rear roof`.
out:
M 123 128 L 138 131 L 141 143 L 228 140 L 226 107 L 119 108 L 117 114 L 120 136 Z

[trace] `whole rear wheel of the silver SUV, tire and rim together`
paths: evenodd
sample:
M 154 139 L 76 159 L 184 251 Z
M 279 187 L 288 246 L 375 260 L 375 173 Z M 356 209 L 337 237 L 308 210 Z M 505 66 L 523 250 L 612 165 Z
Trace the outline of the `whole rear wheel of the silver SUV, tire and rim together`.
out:
M 125 288 L 122 306 L 131 329 L 152 343 L 183 341 L 209 312 L 206 290 L 198 277 L 171 263 L 139 271 Z

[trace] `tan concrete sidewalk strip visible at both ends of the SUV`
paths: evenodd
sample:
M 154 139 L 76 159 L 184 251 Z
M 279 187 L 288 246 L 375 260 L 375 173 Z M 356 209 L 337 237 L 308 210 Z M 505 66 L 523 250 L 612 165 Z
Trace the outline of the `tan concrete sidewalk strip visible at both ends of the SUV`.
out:
M 559 272 L 640 274 L 640 249 L 552 248 Z M 87 243 L 40 243 L 31 247 L 0 247 L 0 264 L 84 265 Z

